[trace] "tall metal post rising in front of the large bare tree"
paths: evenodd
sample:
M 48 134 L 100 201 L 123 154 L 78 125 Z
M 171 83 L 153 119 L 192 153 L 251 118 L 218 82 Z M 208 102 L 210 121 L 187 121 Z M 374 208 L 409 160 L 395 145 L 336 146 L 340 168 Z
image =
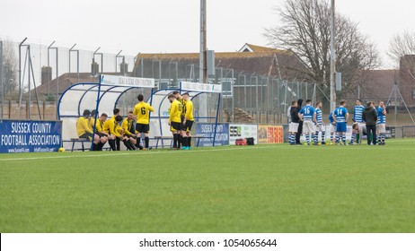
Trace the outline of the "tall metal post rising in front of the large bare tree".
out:
M 336 47 L 335 47 L 335 0 L 331 0 L 330 32 L 330 108 L 336 108 Z

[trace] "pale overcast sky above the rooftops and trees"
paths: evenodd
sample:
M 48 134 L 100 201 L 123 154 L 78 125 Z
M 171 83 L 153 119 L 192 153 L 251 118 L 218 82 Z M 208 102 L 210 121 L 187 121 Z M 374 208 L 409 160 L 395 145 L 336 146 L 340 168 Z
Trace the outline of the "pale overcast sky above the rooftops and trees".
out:
M 199 0 L 0 0 L 0 38 L 136 55 L 197 52 Z M 284 0 L 207 0 L 207 47 L 235 51 L 245 42 L 266 46 L 262 33 L 278 24 Z M 393 34 L 415 30 L 413 0 L 337 0 L 337 12 L 375 41 L 384 67 Z

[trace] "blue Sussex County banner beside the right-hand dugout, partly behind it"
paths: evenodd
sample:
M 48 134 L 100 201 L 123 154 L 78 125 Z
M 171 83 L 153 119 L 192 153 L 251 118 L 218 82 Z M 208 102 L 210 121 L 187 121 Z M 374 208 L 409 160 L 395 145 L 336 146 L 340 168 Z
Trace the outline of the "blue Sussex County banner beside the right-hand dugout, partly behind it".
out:
M 212 146 L 213 136 L 215 134 L 214 123 L 197 123 L 195 133 L 198 136 L 203 136 L 199 141 L 199 146 Z M 215 145 L 229 144 L 229 124 L 217 124 Z

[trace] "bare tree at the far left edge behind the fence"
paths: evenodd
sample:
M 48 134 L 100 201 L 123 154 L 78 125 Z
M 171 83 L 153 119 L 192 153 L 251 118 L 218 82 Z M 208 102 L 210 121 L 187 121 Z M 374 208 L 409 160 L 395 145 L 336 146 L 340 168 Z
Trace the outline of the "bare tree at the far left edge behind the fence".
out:
M 18 85 L 18 65 L 16 51 L 13 42 L 3 41 L 3 77 L 4 94 L 16 91 Z

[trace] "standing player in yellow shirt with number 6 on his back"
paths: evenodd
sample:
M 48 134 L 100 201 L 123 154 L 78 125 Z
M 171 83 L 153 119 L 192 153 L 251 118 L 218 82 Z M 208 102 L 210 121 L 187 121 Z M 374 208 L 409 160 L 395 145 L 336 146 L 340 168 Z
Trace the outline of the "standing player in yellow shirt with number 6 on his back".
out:
M 143 150 L 149 149 L 148 133 L 150 132 L 150 112 L 155 111 L 149 104 L 144 101 L 143 94 L 138 94 L 138 103 L 134 108 L 133 114 L 137 117 L 137 143 L 141 141 L 141 134 L 144 134 L 145 147 Z

